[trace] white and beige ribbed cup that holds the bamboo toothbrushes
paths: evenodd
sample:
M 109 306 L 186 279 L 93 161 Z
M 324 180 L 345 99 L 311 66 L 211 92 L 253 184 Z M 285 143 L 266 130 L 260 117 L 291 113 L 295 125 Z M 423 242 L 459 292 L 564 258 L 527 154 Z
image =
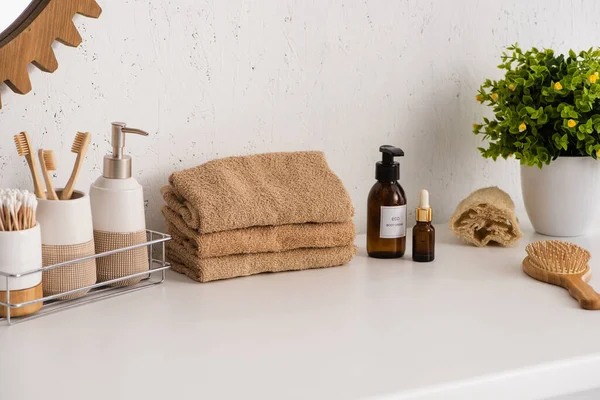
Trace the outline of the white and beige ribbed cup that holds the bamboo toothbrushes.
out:
M 61 190 L 56 193 L 60 197 Z M 45 267 L 95 254 L 92 210 L 87 194 L 74 191 L 70 200 L 38 199 L 37 220 L 42 227 L 42 259 Z M 96 283 L 96 259 L 45 271 L 44 296 L 65 293 Z M 60 299 L 75 299 L 88 290 Z

